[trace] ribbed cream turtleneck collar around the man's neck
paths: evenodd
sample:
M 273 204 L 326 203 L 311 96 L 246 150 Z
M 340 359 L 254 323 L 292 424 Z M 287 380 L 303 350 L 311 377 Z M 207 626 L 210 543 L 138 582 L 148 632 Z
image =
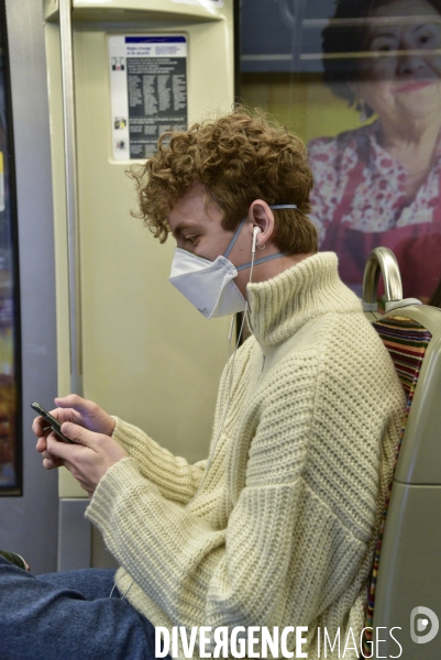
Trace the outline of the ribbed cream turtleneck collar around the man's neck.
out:
M 329 311 L 361 311 L 359 298 L 340 279 L 333 252 L 319 252 L 266 282 L 249 284 L 249 320 L 265 350 Z

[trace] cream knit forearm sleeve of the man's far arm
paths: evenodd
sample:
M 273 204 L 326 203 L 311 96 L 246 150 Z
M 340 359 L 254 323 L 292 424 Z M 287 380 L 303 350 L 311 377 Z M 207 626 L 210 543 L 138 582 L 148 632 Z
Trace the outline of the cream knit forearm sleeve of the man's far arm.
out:
M 152 440 L 137 427 L 118 417 L 113 438 L 136 462 L 139 473 L 155 484 L 161 495 L 179 504 L 186 504 L 195 495 L 207 461 L 189 464 Z

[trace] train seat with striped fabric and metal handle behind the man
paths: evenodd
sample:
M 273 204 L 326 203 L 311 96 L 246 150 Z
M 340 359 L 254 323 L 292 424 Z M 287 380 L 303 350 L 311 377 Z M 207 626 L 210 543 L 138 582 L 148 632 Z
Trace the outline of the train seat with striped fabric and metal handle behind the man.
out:
M 386 293 L 383 316 L 376 310 L 381 273 Z M 365 646 L 365 654 L 439 660 L 441 310 L 416 299 L 403 299 L 398 264 L 386 248 L 375 249 L 368 257 L 363 307 L 390 353 L 407 396 L 366 610 L 374 646 Z M 389 635 L 394 627 L 401 654 Z

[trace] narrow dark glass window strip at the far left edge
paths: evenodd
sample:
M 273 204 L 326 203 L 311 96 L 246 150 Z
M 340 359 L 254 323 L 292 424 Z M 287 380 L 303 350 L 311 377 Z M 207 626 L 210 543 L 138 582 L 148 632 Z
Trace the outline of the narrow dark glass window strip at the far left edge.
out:
M 21 488 L 20 319 L 11 96 L 0 2 L 0 495 Z

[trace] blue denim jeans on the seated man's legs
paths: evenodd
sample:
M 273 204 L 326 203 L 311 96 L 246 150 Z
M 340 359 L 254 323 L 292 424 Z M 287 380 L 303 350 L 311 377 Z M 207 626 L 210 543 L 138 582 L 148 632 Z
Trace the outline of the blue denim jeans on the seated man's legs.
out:
M 0 557 L 0 658 L 152 660 L 155 631 L 118 588 L 113 570 L 34 576 Z

